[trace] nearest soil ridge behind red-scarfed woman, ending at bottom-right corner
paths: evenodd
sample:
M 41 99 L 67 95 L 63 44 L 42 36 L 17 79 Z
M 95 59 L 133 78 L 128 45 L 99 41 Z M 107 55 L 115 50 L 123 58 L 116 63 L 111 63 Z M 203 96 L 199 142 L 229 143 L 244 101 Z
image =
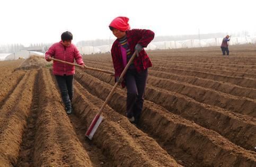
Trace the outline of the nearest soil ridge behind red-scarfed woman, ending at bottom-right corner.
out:
M 90 75 L 87 75 L 86 73 L 80 73 L 78 71 L 76 73 L 76 80 L 78 80 L 87 90 L 89 90 L 91 94 L 98 96 L 102 99 L 105 99 L 108 95 L 108 92 L 110 92 L 111 90 L 110 85 L 105 84 L 104 82 L 94 77 L 90 77 Z M 125 111 L 125 107 L 126 107 L 124 103 L 125 101 L 126 101 L 125 91 L 118 89 L 116 93 L 113 95 L 113 98 L 110 100 L 109 106 L 117 110 L 117 112 L 119 112 L 120 114 L 125 115 L 125 112 L 123 112 Z M 181 160 L 186 165 L 193 165 L 193 164 L 213 165 L 217 159 L 219 161 L 219 164 L 226 164 L 226 165 L 232 165 L 232 164 L 237 165 L 237 164 L 244 164 L 245 162 L 247 162 L 248 157 L 242 158 L 244 160 L 237 159 L 237 162 L 233 162 L 233 161 L 227 162 L 226 160 L 224 160 L 225 158 L 222 161 L 222 157 L 220 156 L 216 157 L 216 159 L 214 159 L 211 156 L 204 157 L 204 152 L 205 152 L 205 156 L 208 156 L 209 150 L 204 150 L 204 148 L 201 147 L 201 145 L 205 145 L 205 146 L 209 145 L 208 147 L 219 147 L 219 149 L 217 150 L 218 151 L 221 150 L 222 153 L 226 152 L 227 156 L 230 156 L 229 154 L 231 154 L 230 152 L 231 150 L 237 150 L 237 149 L 240 149 L 240 147 L 237 147 L 234 144 L 228 142 L 225 138 L 218 135 L 217 133 L 213 133 L 212 131 L 202 128 L 193 122 L 188 122 L 188 120 L 186 119 L 177 117 L 176 115 L 169 113 L 163 107 L 157 106 L 150 101 L 145 101 L 144 103 L 144 110 L 143 110 L 142 120 L 140 120 L 140 123 L 141 125 L 139 125 L 139 127 L 142 126 L 140 127 L 142 131 L 153 136 L 155 140 L 160 141 L 160 143 L 163 142 L 162 147 L 164 147 L 164 149 L 166 149 L 171 156 L 174 156 L 178 160 Z M 191 133 L 187 137 L 190 138 L 195 135 L 195 136 L 198 136 L 198 138 L 195 141 L 189 140 L 188 138 L 183 136 L 183 134 L 182 135 L 180 134 L 181 133 L 180 128 L 186 129 L 186 130 L 183 129 L 183 131 L 185 131 L 188 134 Z M 214 142 L 212 140 L 214 140 Z M 217 143 L 220 143 L 220 144 L 218 145 Z M 174 145 L 177 144 L 177 145 L 173 146 L 173 144 Z M 184 147 L 183 148 L 184 150 L 181 149 L 180 144 L 182 144 L 182 146 Z M 235 148 L 231 149 L 233 146 L 235 146 L 236 149 Z M 174 147 L 176 147 L 176 150 L 174 150 Z M 172 148 L 172 149 L 168 150 L 167 148 Z M 202 150 L 200 150 L 199 148 L 201 148 Z M 244 151 L 247 153 L 245 153 Z M 244 155 L 248 154 L 249 156 L 252 157 L 252 159 L 255 159 L 255 155 L 253 152 L 246 151 L 246 150 L 243 150 L 242 152 L 244 152 L 243 153 Z M 217 153 L 214 153 L 214 154 L 217 154 Z M 240 154 L 240 153 L 234 153 L 234 154 Z M 202 160 L 199 157 L 197 157 L 199 155 L 202 156 L 201 157 Z M 223 155 L 224 154 L 222 154 L 222 156 Z M 196 162 L 193 159 L 200 159 L 200 161 Z M 254 160 L 252 160 L 251 163 L 253 164 Z

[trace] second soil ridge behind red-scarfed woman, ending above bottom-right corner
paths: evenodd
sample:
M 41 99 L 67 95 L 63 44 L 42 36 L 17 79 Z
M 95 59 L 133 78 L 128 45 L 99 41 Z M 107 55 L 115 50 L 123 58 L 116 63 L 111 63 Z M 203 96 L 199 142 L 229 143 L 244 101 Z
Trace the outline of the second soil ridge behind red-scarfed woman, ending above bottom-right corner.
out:
M 114 85 L 114 80 L 112 78 L 110 79 L 107 74 L 95 71 L 87 72 L 104 82 Z M 159 85 L 161 84 L 158 84 L 158 86 Z M 206 128 L 213 129 L 246 149 L 254 150 L 253 145 L 256 140 L 254 131 L 256 130 L 256 124 L 255 118 L 253 117 L 233 113 L 216 106 L 199 103 L 187 96 L 156 88 L 152 85 L 147 86 L 145 99 L 163 106 L 165 109 L 169 110 L 169 112 L 181 115 L 182 117 L 192 120 Z M 170 103 L 170 101 L 172 101 L 172 103 Z M 209 117 L 214 119 L 209 119 Z M 228 125 L 227 121 L 229 122 Z M 245 142 L 244 137 L 248 138 L 248 141 Z

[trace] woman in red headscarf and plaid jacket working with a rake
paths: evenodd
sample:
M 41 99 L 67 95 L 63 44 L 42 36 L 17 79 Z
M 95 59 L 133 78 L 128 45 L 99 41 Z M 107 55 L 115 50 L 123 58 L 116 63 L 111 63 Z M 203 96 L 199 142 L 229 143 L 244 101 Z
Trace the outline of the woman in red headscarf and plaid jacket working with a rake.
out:
M 130 30 L 129 18 L 116 17 L 110 23 L 109 28 L 117 37 L 111 49 L 115 80 L 125 69 L 127 62 L 135 51 L 137 57 L 130 64 L 123 81 L 119 81 L 122 87 L 127 87 L 126 114 L 130 122 L 138 124 L 144 102 L 144 92 L 147 80 L 147 68 L 152 67 L 151 60 L 143 48 L 154 39 L 151 30 Z

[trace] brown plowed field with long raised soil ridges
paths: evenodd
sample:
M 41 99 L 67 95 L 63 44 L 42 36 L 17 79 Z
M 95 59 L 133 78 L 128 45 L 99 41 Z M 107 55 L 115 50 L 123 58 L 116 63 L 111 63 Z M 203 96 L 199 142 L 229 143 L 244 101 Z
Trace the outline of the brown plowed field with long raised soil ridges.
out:
M 125 117 L 118 87 L 92 141 L 84 134 L 113 77 L 76 69 L 66 115 L 51 68 L 0 62 L 0 166 L 256 166 L 255 48 L 148 51 L 139 124 Z M 110 54 L 83 60 L 113 71 Z

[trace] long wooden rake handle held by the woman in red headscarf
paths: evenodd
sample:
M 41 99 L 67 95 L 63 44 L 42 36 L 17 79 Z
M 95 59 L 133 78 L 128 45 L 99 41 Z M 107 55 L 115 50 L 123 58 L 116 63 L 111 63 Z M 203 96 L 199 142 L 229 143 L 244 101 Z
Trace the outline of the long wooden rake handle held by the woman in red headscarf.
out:
M 121 76 L 119 77 L 119 79 L 122 79 L 123 76 L 125 76 L 125 73 L 126 73 L 127 69 L 129 68 L 131 62 L 134 60 L 135 56 L 136 56 L 136 52 L 134 52 L 133 56 L 130 58 L 129 62 L 127 63 L 127 65 L 126 65 L 126 67 L 125 67 L 125 69 L 123 69 L 123 71 L 122 71 Z M 99 112 L 98 112 L 97 115 L 100 115 L 100 114 L 102 113 L 102 111 L 103 111 L 105 105 L 107 105 L 107 103 L 109 102 L 109 100 L 110 100 L 111 96 L 113 95 L 114 90 L 116 90 L 118 84 L 119 84 L 118 81 L 116 82 L 116 84 L 114 84 L 114 87 L 113 87 L 112 90 L 110 91 L 108 97 L 105 99 L 105 101 L 104 101 L 103 105 L 101 106 L 101 108 L 100 108 L 100 110 L 99 110 Z

